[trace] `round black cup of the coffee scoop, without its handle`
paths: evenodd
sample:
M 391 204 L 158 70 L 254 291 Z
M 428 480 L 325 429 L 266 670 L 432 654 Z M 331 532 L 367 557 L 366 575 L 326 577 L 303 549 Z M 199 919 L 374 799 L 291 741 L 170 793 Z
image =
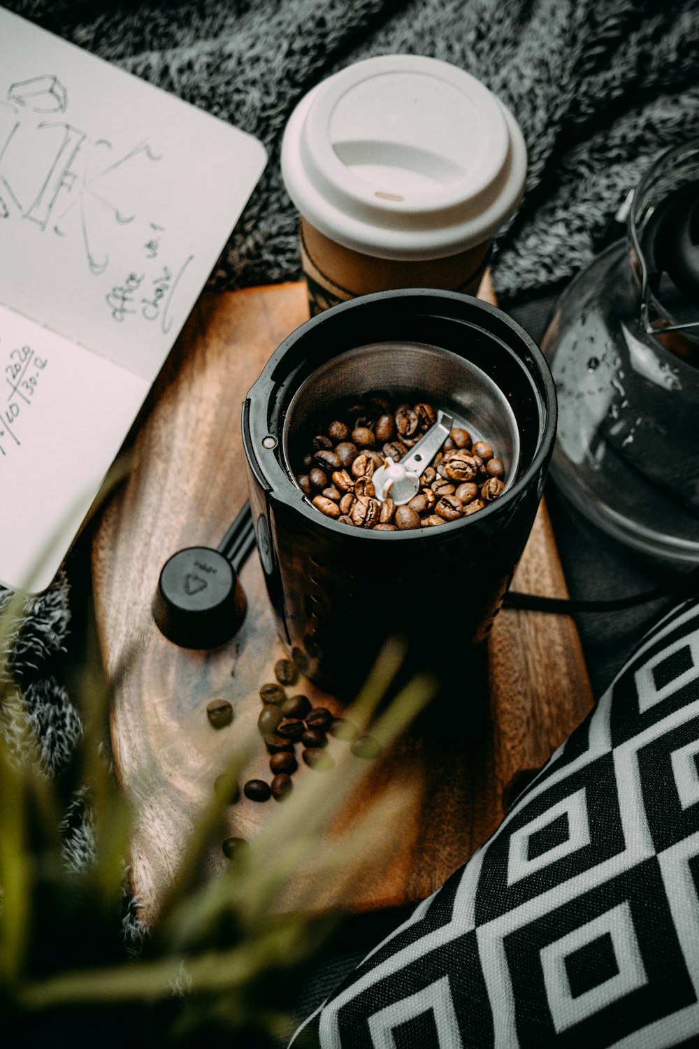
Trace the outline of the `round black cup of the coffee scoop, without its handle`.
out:
M 162 566 L 153 618 L 174 644 L 216 648 L 240 629 L 245 608 L 240 580 L 219 551 L 188 547 Z

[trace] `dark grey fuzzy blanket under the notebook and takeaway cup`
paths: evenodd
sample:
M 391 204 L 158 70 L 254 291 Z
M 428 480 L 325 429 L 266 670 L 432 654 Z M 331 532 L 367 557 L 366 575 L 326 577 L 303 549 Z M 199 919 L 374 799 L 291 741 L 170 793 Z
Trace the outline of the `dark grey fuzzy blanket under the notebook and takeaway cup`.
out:
M 211 285 L 299 276 L 297 216 L 280 138 L 320 79 L 372 55 L 461 66 L 519 121 L 529 152 L 522 206 L 500 236 L 505 307 L 562 286 L 592 256 L 626 190 L 664 149 L 699 136 L 696 0 L 9 0 L 18 14 L 258 135 L 269 164 Z M 65 579 L 26 609 L 14 665 L 47 766 L 79 722 L 50 678 L 68 629 Z M 30 640 L 29 640 L 30 639 Z

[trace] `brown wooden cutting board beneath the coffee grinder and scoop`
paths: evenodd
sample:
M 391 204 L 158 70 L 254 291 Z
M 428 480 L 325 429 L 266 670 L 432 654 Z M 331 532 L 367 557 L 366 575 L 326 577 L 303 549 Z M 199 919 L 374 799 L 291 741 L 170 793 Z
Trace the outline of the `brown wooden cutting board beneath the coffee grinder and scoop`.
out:
M 481 295 L 494 301 L 487 281 Z M 97 627 L 106 668 L 118 675 L 112 746 L 135 813 L 131 879 L 147 923 L 211 797 L 232 737 L 253 730 L 259 687 L 274 680 L 274 663 L 284 655 L 255 554 L 241 575 L 245 623 L 221 648 L 192 651 L 168 642 L 152 620 L 153 595 L 167 558 L 182 547 L 218 545 L 246 498 L 241 402 L 270 354 L 307 317 L 301 283 L 201 297 L 141 414 L 135 467 L 95 535 Z M 514 585 L 566 596 L 543 505 Z M 332 697 L 304 681 L 291 689 L 301 690 L 314 705 L 342 712 Z M 351 818 L 361 821 L 372 800 L 398 784 L 411 785 L 414 800 L 401 814 L 390 864 L 363 863 L 342 899 L 326 885 L 324 907 L 342 903 L 359 911 L 423 899 L 492 834 L 512 778 L 545 762 L 591 706 L 572 620 L 502 612 L 484 677 L 476 673 L 465 691 L 454 731 L 445 734 L 438 718 L 433 731 L 423 720 L 375 763 L 353 797 Z M 217 731 L 205 706 L 220 697 L 233 703 L 235 720 Z M 260 742 L 244 778 L 269 779 L 267 758 Z M 294 782 L 304 775 L 318 773 L 301 766 Z M 228 833 L 254 836 L 276 806 L 243 797 L 230 809 Z M 212 851 L 206 874 L 225 862 Z

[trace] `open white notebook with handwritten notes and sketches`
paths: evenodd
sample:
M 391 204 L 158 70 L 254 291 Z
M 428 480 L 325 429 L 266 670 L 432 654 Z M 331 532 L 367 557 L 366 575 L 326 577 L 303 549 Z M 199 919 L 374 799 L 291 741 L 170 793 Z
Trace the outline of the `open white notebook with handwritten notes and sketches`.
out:
M 0 8 L 0 583 L 44 590 L 266 163 Z

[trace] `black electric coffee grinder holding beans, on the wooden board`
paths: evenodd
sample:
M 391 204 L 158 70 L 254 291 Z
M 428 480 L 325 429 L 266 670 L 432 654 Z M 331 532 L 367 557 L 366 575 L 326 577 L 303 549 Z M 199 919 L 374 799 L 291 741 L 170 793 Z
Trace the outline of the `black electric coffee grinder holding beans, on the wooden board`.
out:
M 505 466 L 506 487 L 468 517 L 403 532 L 324 516 L 293 478 L 309 427 L 381 391 L 429 401 Z M 243 405 L 260 560 L 280 638 L 308 677 L 352 698 L 389 636 L 412 667 L 465 665 L 488 634 L 528 538 L 555 434 L 555 392 L 532 340 L 471 296 L 403 288 L 312 318 L 272 355 Z

